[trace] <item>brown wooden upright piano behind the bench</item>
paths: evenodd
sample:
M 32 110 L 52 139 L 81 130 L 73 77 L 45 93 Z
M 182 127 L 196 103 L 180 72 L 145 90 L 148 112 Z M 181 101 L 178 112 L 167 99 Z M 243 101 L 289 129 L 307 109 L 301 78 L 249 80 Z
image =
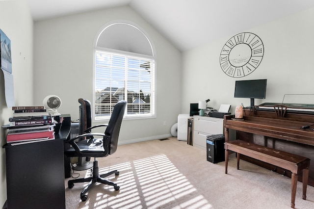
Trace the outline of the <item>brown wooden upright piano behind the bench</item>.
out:
M 245 108 L 243 120 L 234 115 L 225 115 L 225 141 L 229 140 L 229 129 L 236 131 L 236 139 L 307 157 L 314 161 L 314 109 L 280 109 L 273 106 Z M 313 126 L 312 126 L 313 125 Z M 303 126 L 310 128 L 303 129 Z M 241 159 L 255 163 L 269 170 L 291 177 L 291 172 L 263 161 L 241 155 Z M 299 176 L 302 181 L 302 175 Z M 314 186 L 314 163 L 309 167 L 309 185 Z

